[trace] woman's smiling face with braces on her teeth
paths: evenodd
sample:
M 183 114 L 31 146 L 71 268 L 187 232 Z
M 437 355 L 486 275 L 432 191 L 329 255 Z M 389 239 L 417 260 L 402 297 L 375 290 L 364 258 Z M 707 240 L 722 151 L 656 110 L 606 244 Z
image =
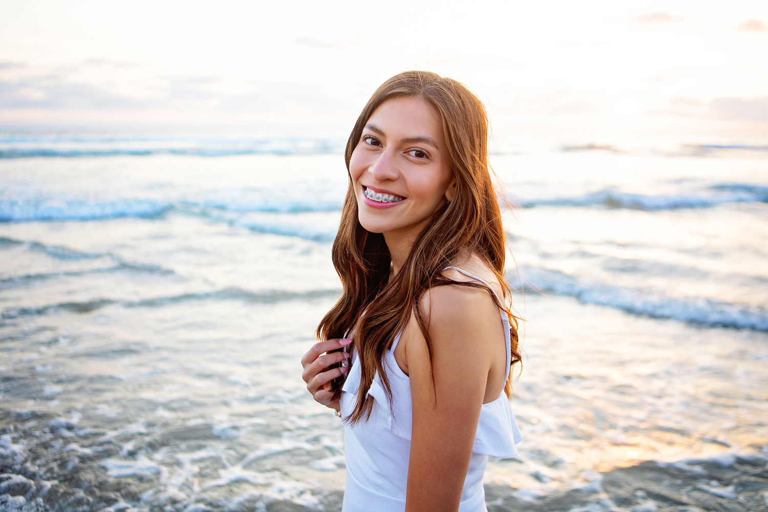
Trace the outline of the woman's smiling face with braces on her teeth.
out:
M 362 130 L 349 174 L 362 227 L 415 236 L 453 197 L 439 114 L 419 97 L 385 101 Z

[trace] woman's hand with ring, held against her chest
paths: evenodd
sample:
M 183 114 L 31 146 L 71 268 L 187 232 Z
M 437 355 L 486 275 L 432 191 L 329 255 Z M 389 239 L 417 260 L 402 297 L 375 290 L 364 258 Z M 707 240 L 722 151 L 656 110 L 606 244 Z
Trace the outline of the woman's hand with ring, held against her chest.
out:
M 333 381 L 334 378 L 349 372 L 349 368 L 339 366 L 339 368 L 331 368 L 329 370 L 328 367 L 337 362 L 346 361 L 349 358 L 349 352 L 330 351 L 344 348 L 350 343 L 352 343 L 351 339 L 344 338 L 317 342 L 301 358 L 301 365 L 304 367 L 301 378 L 306 382 L 306 388 L 312 393 L 315 401 L 326 407 L 336 409 L 336 411 L 339 411 L 339 401 L 333 400 L 333 391 L 326 389 L 326 384 Z

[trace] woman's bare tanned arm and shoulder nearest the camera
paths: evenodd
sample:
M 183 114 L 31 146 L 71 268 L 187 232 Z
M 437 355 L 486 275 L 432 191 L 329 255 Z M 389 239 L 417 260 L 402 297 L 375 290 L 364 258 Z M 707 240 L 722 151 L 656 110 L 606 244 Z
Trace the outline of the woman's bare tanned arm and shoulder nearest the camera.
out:
M 413 401 L 406 512 L 446 512 L 458 510 L 488 374 L 504 338 L 498 306 L 483 289 L 440 286 L 425 293 L 420 307 L 432 365 L 412 316 L 403 333 Z

